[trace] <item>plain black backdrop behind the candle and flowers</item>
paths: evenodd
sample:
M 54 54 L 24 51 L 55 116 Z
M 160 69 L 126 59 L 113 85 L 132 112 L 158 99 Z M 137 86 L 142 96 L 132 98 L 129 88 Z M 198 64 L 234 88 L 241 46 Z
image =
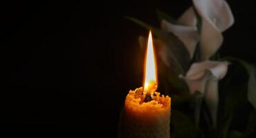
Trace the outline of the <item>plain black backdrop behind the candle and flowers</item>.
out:
M 256 63 L 255 0 L 231 1 L 235 24 L 223 33 L 222 55 Z M 138 36 L 159 26 L 156 9 L 179 17 L 190 0 L 9 1 L 1 3 L 1 46 L 10 49 L 10 83 L 1 90 L 7 130 L 75 130 L 116 137 L 131 89 L 141 86 Z M 161 90 L 159 90 L 161 91 Z M 38 134 L 39 135 L 39 134 Z

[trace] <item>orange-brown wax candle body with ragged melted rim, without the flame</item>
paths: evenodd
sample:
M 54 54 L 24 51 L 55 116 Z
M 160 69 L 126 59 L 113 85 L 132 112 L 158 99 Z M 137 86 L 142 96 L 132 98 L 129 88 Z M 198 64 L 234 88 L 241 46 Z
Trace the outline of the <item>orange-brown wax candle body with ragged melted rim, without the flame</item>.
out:
M 120 114 L 122 138 L 170 138 L 170 97 L 152 92 L 152 101 L 142 102 L 143 88 L 130 90 Z

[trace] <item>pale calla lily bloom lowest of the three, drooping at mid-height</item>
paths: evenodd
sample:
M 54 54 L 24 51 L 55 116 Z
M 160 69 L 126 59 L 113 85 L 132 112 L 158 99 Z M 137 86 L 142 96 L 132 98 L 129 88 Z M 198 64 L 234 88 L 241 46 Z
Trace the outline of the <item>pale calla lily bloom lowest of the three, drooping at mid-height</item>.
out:
M 201 92 L 212 115 L 213 126 L 216 126 L 217 122 L 218 81 L 226 75 L 228 64 L 227 61 L 208 60 L 193 63 L 185 77 L 183 77 L 190 88 L 191 94 L 196 91 Z

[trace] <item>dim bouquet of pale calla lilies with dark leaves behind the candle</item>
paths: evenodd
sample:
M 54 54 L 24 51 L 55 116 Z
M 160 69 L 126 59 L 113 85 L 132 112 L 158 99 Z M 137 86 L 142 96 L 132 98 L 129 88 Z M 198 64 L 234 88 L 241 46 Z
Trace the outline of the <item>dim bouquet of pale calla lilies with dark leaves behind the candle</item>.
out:
M 172 97 L 171 137 L 253 137 L 256 131 L 255 67 L 221 55 L 222 32 L 235 22 L 224 0 L 192 0 L 175 20 L 156 10 L 152 30 L 159 78 Z M 139 37 L 141 48 L 145 37 Z

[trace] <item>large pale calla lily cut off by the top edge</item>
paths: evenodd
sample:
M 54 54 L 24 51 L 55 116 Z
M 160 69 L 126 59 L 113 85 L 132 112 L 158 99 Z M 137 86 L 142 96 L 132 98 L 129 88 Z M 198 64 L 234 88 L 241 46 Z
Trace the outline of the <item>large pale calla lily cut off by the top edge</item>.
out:
M 234 18 L 223 0 L 193 0 L 196 11 L 202 17 L 201 58 L 209 59 L 221 46 L 221 32 L 232 26 Z

